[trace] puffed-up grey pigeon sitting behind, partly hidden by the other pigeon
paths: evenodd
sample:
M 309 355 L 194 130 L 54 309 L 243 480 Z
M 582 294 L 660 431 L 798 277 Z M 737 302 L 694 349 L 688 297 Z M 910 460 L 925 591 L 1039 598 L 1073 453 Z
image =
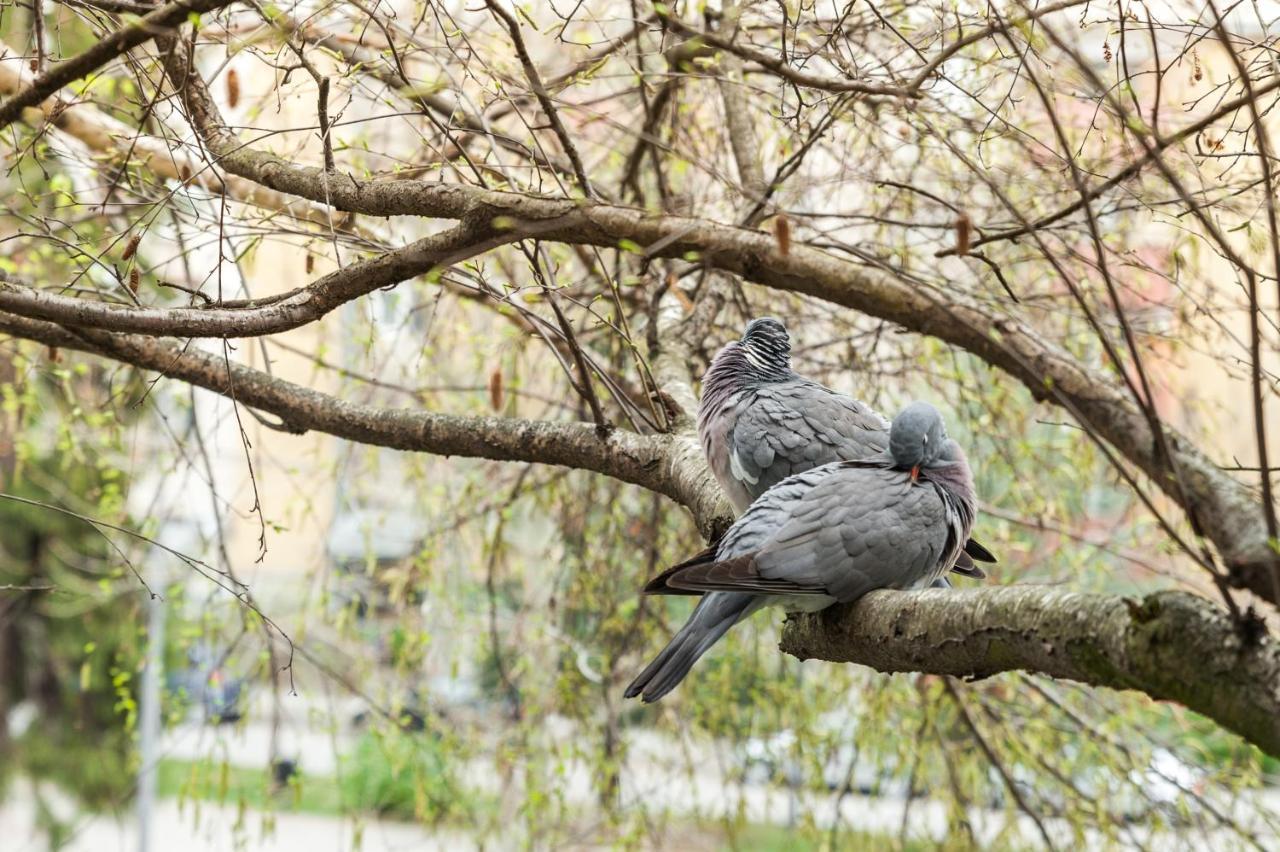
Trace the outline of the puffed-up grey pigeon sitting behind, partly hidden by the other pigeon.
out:
M 712 473 L 741 514 L 794 473 L 882 454 L 888 421 L 870 406 L 794 372 L 791 338 L 781 321 L 765 316 L 751 320 L 742 339 L 712 359 L 703 377 L 698 435 Z M 952 571 L 982 580 L 986 573 L 974 559 L 996 562 L 969 541 Z

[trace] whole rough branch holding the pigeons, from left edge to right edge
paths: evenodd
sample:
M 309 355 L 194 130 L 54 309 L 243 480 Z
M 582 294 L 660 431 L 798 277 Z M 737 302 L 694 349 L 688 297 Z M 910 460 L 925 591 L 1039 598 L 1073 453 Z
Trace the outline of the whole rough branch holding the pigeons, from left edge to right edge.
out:
M 657 491 L 690 509 L 704 536 L 728 507 L 687 435 L 600 434 L 589 423 L 465 417 L 348 403 L 193 348 L 140 335 L 78 333 L 0 315 L 0 333 L 155 370 L 316 430 L 393 449 L 561 464 Z M 1280 646 L 1207 600 L 1158 592 L 1140 601 L 1037 586 L 881 591 L 850 606 L 792 617 L 782 649 L 800 659 L 881 672 L 989 677 L 1027 670 L 1172 700 L 1280 755 Z

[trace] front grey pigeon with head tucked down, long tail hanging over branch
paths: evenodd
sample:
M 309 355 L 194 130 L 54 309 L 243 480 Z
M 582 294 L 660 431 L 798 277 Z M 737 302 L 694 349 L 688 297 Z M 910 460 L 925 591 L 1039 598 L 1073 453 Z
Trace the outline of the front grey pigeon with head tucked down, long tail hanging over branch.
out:
M 878 458 L 790 476 L 713 546 L 649 581 L 645 594 L 703 595 L 626 697 L 658 701 L 733 624 L 762 606 L 817 611 L 876 588 L 923 588 L 960 555 L 977 514 L 973 475 L 942 416 L 911 403 Z

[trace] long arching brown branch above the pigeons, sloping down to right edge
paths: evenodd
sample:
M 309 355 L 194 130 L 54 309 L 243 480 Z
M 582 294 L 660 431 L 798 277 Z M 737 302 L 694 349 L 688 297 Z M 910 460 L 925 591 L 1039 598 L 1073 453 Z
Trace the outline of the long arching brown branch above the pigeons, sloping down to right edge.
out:
M 966 298 L 941 293 L 892 270 L 873 269 L 808 246 L 783 253 L 772 235 L 701 219 L 655 216 L 618 205 L 553 200 L 420 180 L 360 180 L 300 168 L 239 143 L 180 51 L 169 54 L 188 115 L 220 165 L 271 189 L 375 216 L 420 215 L 485 223 L 499 232 L 530 229 L 541 239 L 616 247 L 623 241 L 655 257 L 696 256 L 722 271 L 782 290 L 806 293 L 897 322 L 961 347 L 1021 381 L 1037 399 L 1061 404 L 1112 444 L 1204 530 L 1239 586 L 1280 604 L 1276 554 L 1262 507 L 1189 440 L 1166 429 L 1169 469 L 1142 411 L 1110 372 L 1082 363 L 1032 325 Z

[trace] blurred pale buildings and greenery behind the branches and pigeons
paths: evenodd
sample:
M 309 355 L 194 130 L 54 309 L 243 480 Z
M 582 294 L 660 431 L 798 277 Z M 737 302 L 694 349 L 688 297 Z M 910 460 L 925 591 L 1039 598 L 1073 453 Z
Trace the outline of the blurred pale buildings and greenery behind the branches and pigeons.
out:
M 1060 3 L 957 52 L 920 104 L 868 101 L 662 19 L 785 51 L 797 72 L 878 79 L 1036 5 L 672 6 L 502 6 L 600 193 L 754 217 L 922 287 L 1014 297 L 1089 363 L 1101 347 L 1053 274 L 1074 270 L 1103 303 L 1082 219 L 1046 229 L 1051 251 L 936 253 L 970 239 L 960 220 L 991 223 L 975 241 L 1016 226 L 997 189 L 1036 215 L 1070 201 L 1071 175 L 1039 142 L 1050 115 L 1100 179 L 1139 154 L 1091 73 L 1162 104 L 1170 127 L 1238 92 L 1236 51 L 1256 84 L 1280 73 L 1276 4 L 1224 9 L 1224 41 L 1202 4 Z M 4 0 L 0 92 L 29 82 L 37 43 L 72 56 L 140 10 Z M 484 5 L 241 4 L 200 20 L 192 56 L 236 132 L 288 161 L 324 157 L 319 68 L 340 170 L 567 192 L 567 155 Z M 264 298 L 442 229 L 316 219 L 201 170 L 161 59 L 145 45 L 4 130 L 0 270 L 165 304 Z M 723 132 L 736 119 L 777 185 L 763 212 L 748 214 L 760 191 Z M 1254 161 L 1226 159 L 1251 143 L 1248 122 L 1220 124 L 1170 152 L 1188 197 L 1138 178 L 1106 200 L 1123 287 L 1105 324 L 1137 330 L 1160 416 L 1247 469 L 1248 303 L 1188 211 L 1211 209 L 1231 244 L 1265 255 L 1265 191 Z M 769 313 L 800 372 L 887 413 L 913 398 L 943 408 L 984 501 L 975 536 L 1001 559 L 988 582 L 1217 594 L 1091 436 L 1007 375 L 872 316 L 641 255 L 506 247 L 294 330 L 191 345 L 351 403 L 590 421 L 556 331 L 563 307 L 607 414 L 635 425 L 653 304 L 692 311 L 721 288 L 694 377 Z M 1274 281 L 1262 301 L 1274 315 Z M 1270 394 L 1275 325 L 1261 334 Z M 1267 435 L 1280 439 L 1274 421 Z M 1133 692 L 800 663 L 777 651 L 769 614 L 669 700 L 625 702 L 689 609 L 637 588 L 703 541 L 671 500 L 588 471 L 289 434 L 224 395 L 4 338 L 0 485 L 6 851 L 1280 848 L 1280 762 Z

